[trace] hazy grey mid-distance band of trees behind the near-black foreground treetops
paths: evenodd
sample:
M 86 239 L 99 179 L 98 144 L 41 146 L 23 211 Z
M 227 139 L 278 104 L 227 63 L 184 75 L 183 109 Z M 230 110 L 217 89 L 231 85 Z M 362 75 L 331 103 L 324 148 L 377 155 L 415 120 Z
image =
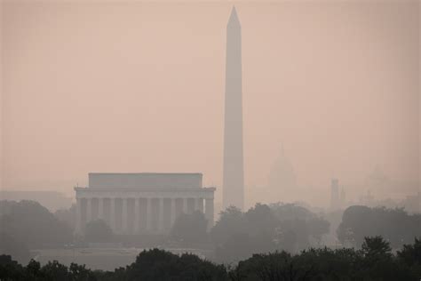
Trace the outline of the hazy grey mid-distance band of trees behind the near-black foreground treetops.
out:
M 330 222 L 324 214 L 292 204 L 258 204 L 246 212 L 227 208 L 209 232 L 203 213 L 182 214 L 171 233 L 157 237 L 159 240 L 115 235 L 105 221 L 89 222 L 84 237 L 74 237 L 74 216 L 73 207 L 53 214 L 33 201 L 0 201 L 0 254 L 11 254 L 17 261 L 28 263 L 30 249 L 112 241 L 143 248 L 204 246 L 214 249 L 213 261 L 233 262 L 253 253 L 299 253 L 309 247 L 322 247 L 322 237 L 330 232 Z M 353 205 L 343 213 L 337 229 L 338 242 L 361 248 L 364 237 L 382 236 L 393 249 L 399 249 L 412 243 L 414 237 L 421 237 L 420 226 L 421 214 Z

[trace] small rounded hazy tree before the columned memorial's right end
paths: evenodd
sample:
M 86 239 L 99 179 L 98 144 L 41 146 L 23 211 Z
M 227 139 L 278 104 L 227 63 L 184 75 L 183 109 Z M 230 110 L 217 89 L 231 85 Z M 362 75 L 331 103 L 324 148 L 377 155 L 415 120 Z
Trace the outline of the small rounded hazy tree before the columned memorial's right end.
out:
M 186 242 L 202 242 L 207 238 L 207 226 L 202 212 L 182 213 L 172 226 L 171 236 Z

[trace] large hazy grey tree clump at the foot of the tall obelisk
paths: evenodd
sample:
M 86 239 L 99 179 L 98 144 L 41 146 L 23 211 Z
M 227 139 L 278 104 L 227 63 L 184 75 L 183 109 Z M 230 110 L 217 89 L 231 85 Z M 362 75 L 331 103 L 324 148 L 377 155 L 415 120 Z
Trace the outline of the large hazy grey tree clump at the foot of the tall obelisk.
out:
M 211 229 L 211 238 L 217 245 L 218 261 L 238 261 L 252 253 L 274 249 L 296 253 L 310 245 L 319 245 L 322 235 L 328 232 L 329 221 L 306 208 L 257 204 L 246 213 L 235 207 L 220 213 Z

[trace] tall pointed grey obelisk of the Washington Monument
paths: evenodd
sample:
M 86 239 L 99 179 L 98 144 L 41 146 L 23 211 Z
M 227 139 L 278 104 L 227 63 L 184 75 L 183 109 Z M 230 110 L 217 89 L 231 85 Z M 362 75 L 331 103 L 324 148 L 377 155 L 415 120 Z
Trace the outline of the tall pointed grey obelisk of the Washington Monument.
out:
M 242 30 L 235 7 L 226 27 L 223 206 L 244 206 L 242 159 Z

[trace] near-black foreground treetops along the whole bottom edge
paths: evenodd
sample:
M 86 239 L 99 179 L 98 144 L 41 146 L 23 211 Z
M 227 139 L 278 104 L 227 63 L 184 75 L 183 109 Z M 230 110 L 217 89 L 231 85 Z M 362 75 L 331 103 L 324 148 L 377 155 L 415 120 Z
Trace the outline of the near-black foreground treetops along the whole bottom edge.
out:
M 114 271 L 85 269 L 58 261 L 40 266 L 29 261 L 21 266 L 10 256 L 0 256 L 0 280 L 414 280 L 421 278 L 421 240 L 403 245 L 393 254 L 382 237 L 366 237 L 361 250 L 342 248 L 310 249 L 297 254 L 287 252 L 253 254 L 236 266 L 204 261 L 193 254 L 175 255 L 163 250 L 139 253 L 136 261 Z

